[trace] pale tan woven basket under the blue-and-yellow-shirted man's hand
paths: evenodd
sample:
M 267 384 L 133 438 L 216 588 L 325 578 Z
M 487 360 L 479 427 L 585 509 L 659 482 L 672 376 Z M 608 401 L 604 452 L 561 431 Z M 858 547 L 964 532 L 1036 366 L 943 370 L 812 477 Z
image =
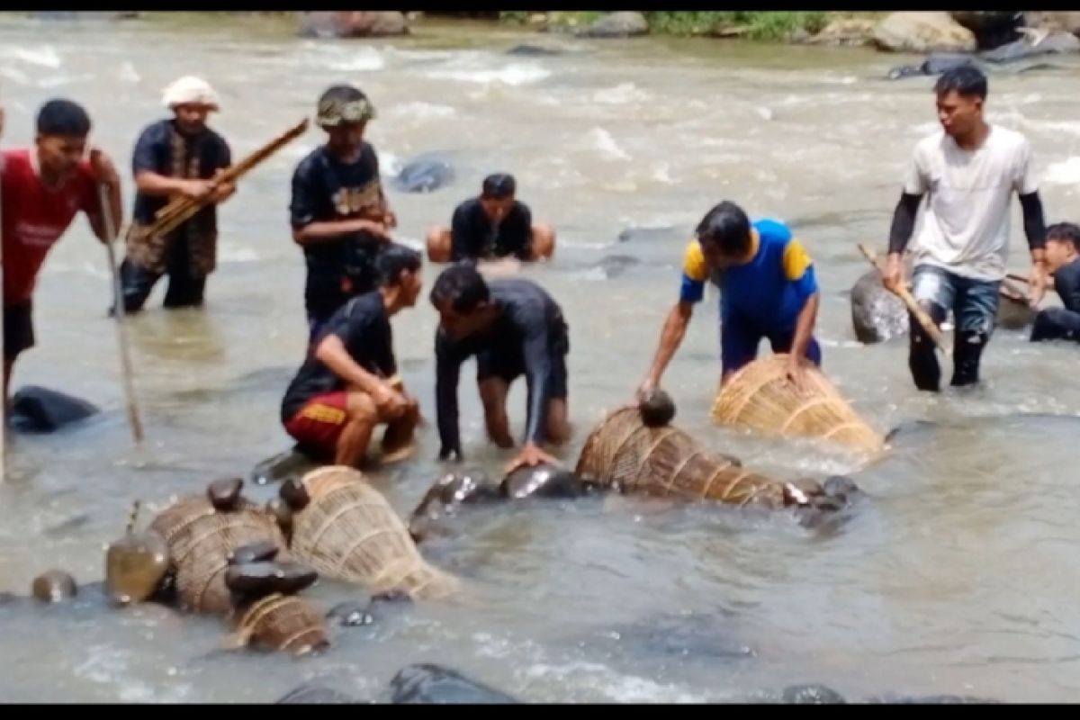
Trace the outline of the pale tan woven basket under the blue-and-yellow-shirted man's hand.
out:
M 805 389 L 786 378 L 787 355 L 769 355 L 735 372 L 713 404 L 720 424 L 814 437 L 853 450 L 877 452 L 885 437 L 860 418 L 813 364 L 802 361 Z

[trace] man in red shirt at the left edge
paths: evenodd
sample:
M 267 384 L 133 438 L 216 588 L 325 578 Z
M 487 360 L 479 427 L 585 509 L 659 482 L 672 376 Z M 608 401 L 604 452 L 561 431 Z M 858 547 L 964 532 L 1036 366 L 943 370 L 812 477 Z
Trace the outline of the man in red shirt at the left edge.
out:
M 120 177 L 112 161 L 96 148 L 84 158 L 90 127 L 90 116 L 80 105 L 50 100 L 38 111 L 36 147 L 0 153 L 5 403 L 15 358 L 35 344 L 33 288 L 49 250 L 80 212 L 103 243 L 112 240 L 102 215 L 99 182 L 108 188 L 113 225 L 122 217 Z

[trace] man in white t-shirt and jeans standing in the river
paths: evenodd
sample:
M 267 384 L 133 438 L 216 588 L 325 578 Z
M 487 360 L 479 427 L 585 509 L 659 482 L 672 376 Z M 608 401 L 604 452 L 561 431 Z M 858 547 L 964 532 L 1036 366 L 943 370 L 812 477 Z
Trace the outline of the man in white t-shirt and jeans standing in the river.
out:
M 942 132 L 915 147 L 893 214 L 885 284 L 896 288 L 903 282 L 901 256 L 927 195 L 922 226 L 912 247 L 912 295 L 939 325 L 953 311 L 951 384 L 973 385 L 978 382 L 983 349 L 997 320 L 1013 192 L 1020 198 L 1031 252 L 1032 305 L 1045 293 L 1042 201 L 1027 139 L 983 117 L 986 77 L 982 71 L 972 66 L 954 68 L 939 78 L 934 92 Z M 941 368 L 933 341 L 914 320 L 910 327 L 912 378 L 919 390 L 937 391 Z

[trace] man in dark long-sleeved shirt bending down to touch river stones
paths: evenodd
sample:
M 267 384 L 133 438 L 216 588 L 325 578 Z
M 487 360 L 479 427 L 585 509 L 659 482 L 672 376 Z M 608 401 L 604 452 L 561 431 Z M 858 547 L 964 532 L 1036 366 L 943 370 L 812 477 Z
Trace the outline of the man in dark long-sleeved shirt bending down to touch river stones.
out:
M 569 328 L 563 311 L 536 283 L 524 279 L 485 282 L 475 267 L 453 266 L 438 276 L 431 303 L 440 314 L 435 335 L 435 396 L 440 459 L 462 458 L 458 430 L 458 379 L 461 364 L 476 355 L 476 383 L 491 440 L 514 446 L 507 418 L 507 393 L 522 373 L 528 383 L 525 447 L 510 465 L 557 462 L 543 443 L 564 443 L 567 423 L 566 355 Z

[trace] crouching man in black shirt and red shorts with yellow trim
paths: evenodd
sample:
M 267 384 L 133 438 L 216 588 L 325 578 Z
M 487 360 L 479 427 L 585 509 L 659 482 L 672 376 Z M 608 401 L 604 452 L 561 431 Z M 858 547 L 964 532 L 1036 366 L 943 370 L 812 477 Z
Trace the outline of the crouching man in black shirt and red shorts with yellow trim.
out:
M 351 467 L 364 463 L 378 424 L 387 425 L 382 462 L 410 453 L 420 419 L 419 404 L 397 378 L 390 327 L 390 317 L 420 296 L 420 254 L 391 245 L 376 268 L 379 287 L 330 316 L 281 405 L 285 431 L 303 452 Z

